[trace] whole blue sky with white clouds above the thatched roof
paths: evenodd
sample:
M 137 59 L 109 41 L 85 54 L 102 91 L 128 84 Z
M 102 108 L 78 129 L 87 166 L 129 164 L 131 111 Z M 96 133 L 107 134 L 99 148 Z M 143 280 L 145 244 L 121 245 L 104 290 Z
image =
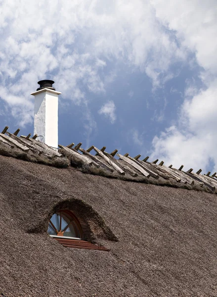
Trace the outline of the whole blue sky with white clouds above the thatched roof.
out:
M 0 129 L 33 134 L 43 79 L 59 144 L 217 171 L 216 0 L 0 0 Z

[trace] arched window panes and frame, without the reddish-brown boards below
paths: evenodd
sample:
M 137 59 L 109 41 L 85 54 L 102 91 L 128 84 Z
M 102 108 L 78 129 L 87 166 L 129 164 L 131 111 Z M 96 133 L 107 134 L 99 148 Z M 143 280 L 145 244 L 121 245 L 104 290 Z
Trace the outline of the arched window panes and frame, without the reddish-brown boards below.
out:
M 59 210 L 49 220 L 47 230 L 51 237 L 82 239 L 83 232 L 79 220 L 70 210 Z

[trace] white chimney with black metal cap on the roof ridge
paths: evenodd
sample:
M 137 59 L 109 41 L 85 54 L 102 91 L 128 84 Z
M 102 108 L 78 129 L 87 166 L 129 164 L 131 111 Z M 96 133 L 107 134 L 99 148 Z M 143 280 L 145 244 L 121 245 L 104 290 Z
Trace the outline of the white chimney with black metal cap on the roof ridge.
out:
M 58 148 L 58 95 L 53 88 L 54 81 L 42 80 L 35 96 L 34 135 L 52 148 Z

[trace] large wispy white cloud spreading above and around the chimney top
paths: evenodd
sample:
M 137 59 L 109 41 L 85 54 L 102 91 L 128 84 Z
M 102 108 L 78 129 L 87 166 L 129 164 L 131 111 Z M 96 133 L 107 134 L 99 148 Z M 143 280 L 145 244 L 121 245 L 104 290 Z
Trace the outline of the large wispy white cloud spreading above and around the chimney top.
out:
M 2 0 L 1 11 L 0 80 L 10 95 L 0 98 L 22 125 L 32 121 L 27 100 L 40 79 L 54 79 L 63 100 L 81 104 L 86 90 L 106 92 L 121 63 L 160 87 L 173 77 L 174 61 L 187 56 L 148 0 Z M 114 69 L 109 75 L 107 61 Z M 18 106 L 22 112 L 15 113 Z

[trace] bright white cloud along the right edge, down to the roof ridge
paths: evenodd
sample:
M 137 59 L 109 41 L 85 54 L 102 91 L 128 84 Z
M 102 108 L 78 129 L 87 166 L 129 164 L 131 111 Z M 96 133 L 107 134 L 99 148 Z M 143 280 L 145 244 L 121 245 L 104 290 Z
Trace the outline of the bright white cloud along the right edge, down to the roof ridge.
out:
M 176 126 L 153 139 L 152 156 L 164 158 L 176 167 L 201 167 L 206 170 L 210 162 L 217 170 L 217 5 L 215 0 L 163 1 L 152 0 L 159 21 L 174 34 L 183 47 L 195 53 L 200 65 L 198 77 L 202 83 L 187 80 L 184 102 L 180 107 Z M 185 168 L 186 170 L 189 168 Z M 199 169 L 199 168 L 198 168 Z

